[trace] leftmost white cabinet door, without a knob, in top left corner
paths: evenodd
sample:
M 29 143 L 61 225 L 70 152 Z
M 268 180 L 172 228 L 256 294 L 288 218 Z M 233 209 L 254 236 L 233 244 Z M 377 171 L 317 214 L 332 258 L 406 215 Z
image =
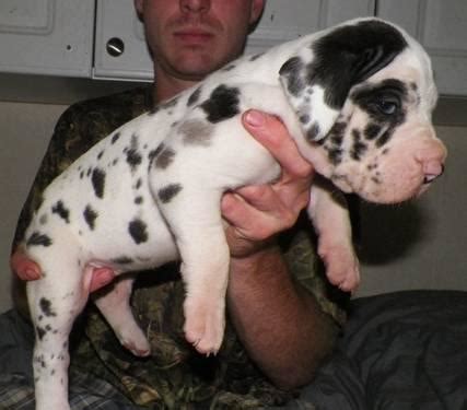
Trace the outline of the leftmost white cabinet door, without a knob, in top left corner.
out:
M 0 71 L 90 77 L 94 0 L 1 0 Z

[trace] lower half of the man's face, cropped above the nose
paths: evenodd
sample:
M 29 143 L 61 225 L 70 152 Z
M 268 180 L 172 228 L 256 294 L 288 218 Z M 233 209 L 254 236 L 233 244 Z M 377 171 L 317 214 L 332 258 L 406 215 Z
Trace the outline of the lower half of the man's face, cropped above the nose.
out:
M 155 69 L 199 81 L 241 55 L 264 0 L 135 0 L 135 4 Z

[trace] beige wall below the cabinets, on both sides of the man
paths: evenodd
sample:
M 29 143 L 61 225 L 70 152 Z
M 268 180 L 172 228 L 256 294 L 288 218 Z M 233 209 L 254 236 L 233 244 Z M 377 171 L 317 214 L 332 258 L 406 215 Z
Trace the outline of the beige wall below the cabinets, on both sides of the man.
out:
M 0 312 L 11 306 L 8 259 L 16 218 L 65 108 L 0 102 Z M 467 127 L 437 130 L 451 153 L 445 175 L 433 188 L 406 206 L 364 207 L 358 295 L 467 290 Z

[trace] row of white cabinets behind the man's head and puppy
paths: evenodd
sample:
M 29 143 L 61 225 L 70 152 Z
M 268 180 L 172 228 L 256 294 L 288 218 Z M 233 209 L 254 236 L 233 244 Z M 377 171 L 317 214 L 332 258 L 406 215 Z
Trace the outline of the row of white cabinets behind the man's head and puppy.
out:
M 267 0 L 246 52 L 377 14 L 416 36 L 444 95 L 467 95 L 467 0 Z M 152 80 L 131 0 L 0 0 L 0 72 Z

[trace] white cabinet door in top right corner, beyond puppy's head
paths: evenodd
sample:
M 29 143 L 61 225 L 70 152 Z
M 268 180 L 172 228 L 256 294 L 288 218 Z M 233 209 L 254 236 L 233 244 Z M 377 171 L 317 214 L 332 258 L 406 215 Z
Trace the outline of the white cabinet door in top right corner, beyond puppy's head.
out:
M 441 94 L 467 95 L 467 1 L 378 0 L 377 10 L 425 47 Z

